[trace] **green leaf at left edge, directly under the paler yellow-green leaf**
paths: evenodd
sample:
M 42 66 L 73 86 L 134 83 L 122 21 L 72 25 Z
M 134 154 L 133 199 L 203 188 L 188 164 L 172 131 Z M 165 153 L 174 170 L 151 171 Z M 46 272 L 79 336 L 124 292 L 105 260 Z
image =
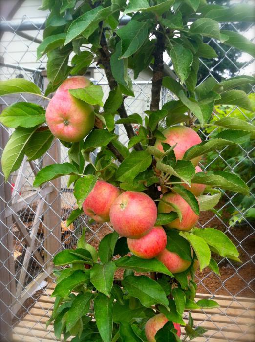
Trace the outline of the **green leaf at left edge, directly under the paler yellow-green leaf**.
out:
M 17 102 L 3 109 L 0 122 L 11 128 L 34 127 L 45 122 L 45 110 L 34 103 Z

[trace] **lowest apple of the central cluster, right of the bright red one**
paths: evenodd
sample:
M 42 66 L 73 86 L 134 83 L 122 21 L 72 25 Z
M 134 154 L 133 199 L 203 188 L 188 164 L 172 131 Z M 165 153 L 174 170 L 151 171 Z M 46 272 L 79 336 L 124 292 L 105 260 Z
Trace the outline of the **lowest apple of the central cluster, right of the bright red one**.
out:
M 166 248 L 156 256 L 172 273 L 180 273 L 191 265 L 191 261 L 182 259 L 177 253 L 170 252 Z

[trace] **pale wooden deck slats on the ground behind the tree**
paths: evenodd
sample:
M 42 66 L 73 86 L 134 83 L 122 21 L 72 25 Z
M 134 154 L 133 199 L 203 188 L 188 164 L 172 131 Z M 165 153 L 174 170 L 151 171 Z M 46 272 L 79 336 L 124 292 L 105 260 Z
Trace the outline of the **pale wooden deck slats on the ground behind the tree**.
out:
M 54 298 L 51 298 L 55 284 L 49 284 L 37 303 L 14 329 L 14 342 L 52 342 L 56 341 L 53 325 L 48 329 L 45 323 L 49 319 Z M 196 300 L 209 299 L 211 295 L 197 294 Z M 252 298 L 217 295 L 213 297 L 220 308 L 206 310 L 191 310 L 195 325 L 208 331 L 204 337 L 194 339 L 194 342 L 255 341 L 255 302 Z M 187 322 L 187 318 L 184 319 Z M 184 332 L 184 327 L 182 327 Z

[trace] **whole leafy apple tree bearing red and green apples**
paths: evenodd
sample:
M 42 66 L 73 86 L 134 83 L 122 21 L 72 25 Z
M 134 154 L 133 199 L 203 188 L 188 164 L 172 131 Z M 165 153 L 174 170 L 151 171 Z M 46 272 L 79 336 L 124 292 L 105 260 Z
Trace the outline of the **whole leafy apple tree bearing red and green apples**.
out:
M 28 102 L 3 110 L 0 122 L 15 130 L 2 169 L 8 179 L 24 157 L 40 158 L 58 138 L 69 149 L 69 162 L 44 167 L 34 186 L 69 175 L 78 208 L 68 224 L 85 212 L 114 229 L 98 250 L 86 242 L 84 230 L 76 249 L 54 257 L 56 299 L 47 324 L 54 325 L 57 338 L 72 336 L 72 342 L 181 341 L 180 325 L 185 340 L 197 337 L 204 330 L 194 326 L 191 314 L 185 322 L 184 310 L 218 304 L 195 300 L 195 270 L 209 267 L 219 274 L 211 252 L 239 258 L 224 233 L 196 223 L 218 203 L 220 189 L 249 193 L 234 173 L 204 173 L 198 163 L 212 150 L 255 137 L 252 124 L 224 117 L 211 124 L 224 129 L 201 140 L 199 128 L 209 125 L 214 105 L 252 110 L 246 93 L 236 88 L 255 79 L 218 83 L 209 76 L 197 85 L 199 58 L 217 59 L 203 42 L 208 37 L 255 57 L 249 40 L 220 29 L 225 21 L 253 21 L 253 8 L 206 0 L 43 0 L 41 9 L 50 12 L 37 50 L 38 58 L 47 55 L 45 94 L 32 82 L 13 79 L 0 83 L 0 95 L 32 93 L 49 105 L 46 113 Z M 164 76 L 166 54 L 173 65 L 170 76 Z M 92 63 L 108 80 L 105 101 L 101 86 L 83 76 Z M 132 78 L 149 67 L 150 108 L 127 115 L 125 99 L 135 96 Z M 161 107 L 162 86 L 175 100 Z M 124 125 L 127 146 L 115 133 L 117 124 Z M 118 269 L 125 270 L 122 280 L 114 278 Z

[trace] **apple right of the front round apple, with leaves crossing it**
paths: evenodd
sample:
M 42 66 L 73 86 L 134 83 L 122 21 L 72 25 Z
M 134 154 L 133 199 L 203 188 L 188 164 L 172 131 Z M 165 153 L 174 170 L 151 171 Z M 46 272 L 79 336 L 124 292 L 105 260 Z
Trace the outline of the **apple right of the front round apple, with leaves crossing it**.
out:
M 165 202 L 169 202 L 169 205 L 165 202 L 159 202 L 158 204 L 158 212 L 159 213 L 170 213 L 175 211 L 175 209 L 170 205 L 170 203 L 175 204 L 182 214 L 182 221 L 179 218 L 176 218 L 172 222 L 164 225 L 168 228 L 175 228 L 180 231 L 189 231 L 194 227 L 196 222 L 198 221 L 199 216 L 196 215 L 189 204 L 177 193 L 167 192 L 161 198 Z

